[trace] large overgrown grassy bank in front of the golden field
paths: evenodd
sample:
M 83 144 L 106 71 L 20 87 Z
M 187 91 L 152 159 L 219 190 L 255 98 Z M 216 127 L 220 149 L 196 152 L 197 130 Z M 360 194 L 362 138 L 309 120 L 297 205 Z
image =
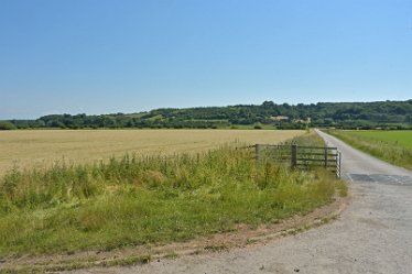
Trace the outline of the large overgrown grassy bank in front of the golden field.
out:
M 110 250 L 273 223 L 327 204 L 337 184 L 230 145 L 13 169 L 0 179 L 0 255 Z

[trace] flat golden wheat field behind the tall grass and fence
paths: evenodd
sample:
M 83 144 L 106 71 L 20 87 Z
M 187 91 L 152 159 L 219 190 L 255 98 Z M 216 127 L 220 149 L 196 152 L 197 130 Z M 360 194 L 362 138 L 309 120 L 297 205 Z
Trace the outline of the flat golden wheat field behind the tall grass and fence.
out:
M 278 143 L 303 134 L 289 130 L 28 130 L 0 132 L 0 175 L 13 166 L 56 161 L 86 163 L 135 154 L 199 152 L 220 144 Z

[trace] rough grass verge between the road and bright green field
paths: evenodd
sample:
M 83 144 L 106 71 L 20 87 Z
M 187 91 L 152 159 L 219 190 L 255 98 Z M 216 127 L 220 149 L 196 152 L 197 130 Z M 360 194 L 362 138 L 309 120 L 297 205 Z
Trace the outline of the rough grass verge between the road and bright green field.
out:
M 351 146 L 378 158 L 412 169 L 411 147 L 397 142 L 384 142 L 373 138 L 362 136 L 350 131 L 328 130 L 327 132 Z M 377 132 L 377 134 L 379 134 L 379 132 Z

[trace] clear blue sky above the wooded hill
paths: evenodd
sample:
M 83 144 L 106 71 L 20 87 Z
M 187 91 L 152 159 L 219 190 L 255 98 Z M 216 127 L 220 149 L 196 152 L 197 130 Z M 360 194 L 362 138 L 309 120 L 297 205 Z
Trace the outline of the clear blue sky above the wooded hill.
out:
M 411 98 L 411 0 L 0 1 L 0 119 Z

